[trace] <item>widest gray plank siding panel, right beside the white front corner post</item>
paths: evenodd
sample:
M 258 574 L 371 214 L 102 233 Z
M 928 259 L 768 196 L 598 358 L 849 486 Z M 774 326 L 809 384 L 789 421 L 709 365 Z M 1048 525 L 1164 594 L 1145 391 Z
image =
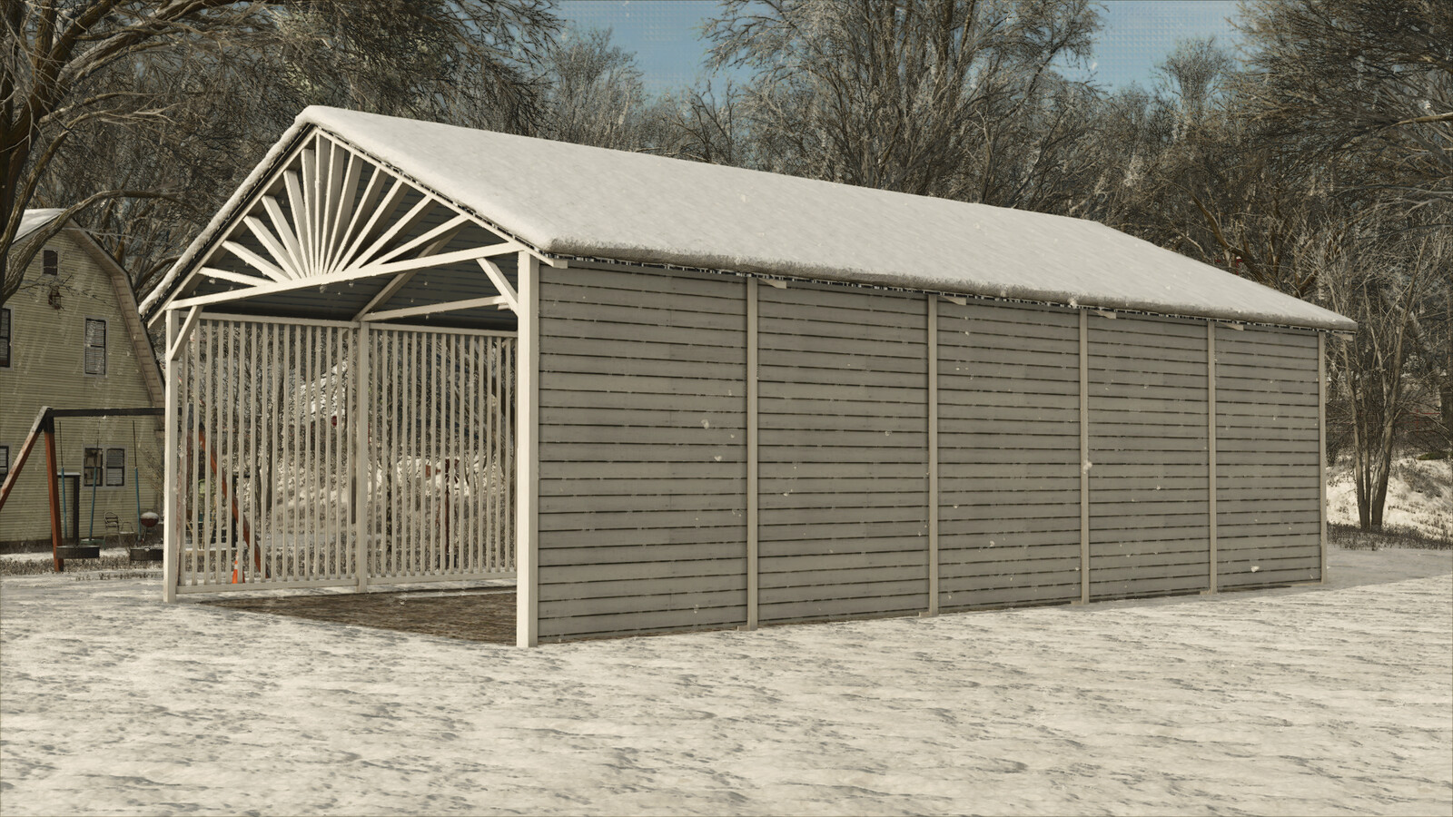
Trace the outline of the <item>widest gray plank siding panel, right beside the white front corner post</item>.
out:
M 744 624 L 744 281 L 541 278 L 541 638 Z

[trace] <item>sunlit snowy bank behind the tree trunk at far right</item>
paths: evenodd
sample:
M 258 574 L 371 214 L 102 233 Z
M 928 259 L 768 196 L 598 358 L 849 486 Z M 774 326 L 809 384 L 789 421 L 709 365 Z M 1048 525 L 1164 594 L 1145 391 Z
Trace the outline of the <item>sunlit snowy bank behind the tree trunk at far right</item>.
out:
M 1327 520 L 1357 525 L 1357 487 L 1351 458 L 1328 468 Z M 1399 456 L 1388 477 L 1388 504 L 1382 512 L 1389 531 L 1414 531 L 1453 542 L 1453 461 Z

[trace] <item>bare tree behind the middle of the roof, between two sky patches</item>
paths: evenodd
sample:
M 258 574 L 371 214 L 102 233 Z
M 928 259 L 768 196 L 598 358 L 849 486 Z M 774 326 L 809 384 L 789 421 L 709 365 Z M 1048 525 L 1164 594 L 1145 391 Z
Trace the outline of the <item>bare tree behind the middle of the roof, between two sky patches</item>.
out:
M 1026 122 L 1097 25 L 1085 0 L 728 0 L 706 36 L 713 67 L 754 71 L 766 169 L 1016 205 L 1027 172 L 1004 169 L 1053 154 Z

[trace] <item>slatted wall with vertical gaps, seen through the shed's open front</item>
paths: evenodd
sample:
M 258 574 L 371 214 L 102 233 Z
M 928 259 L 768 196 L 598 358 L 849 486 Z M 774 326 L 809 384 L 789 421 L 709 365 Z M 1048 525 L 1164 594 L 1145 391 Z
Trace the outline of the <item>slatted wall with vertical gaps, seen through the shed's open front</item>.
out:
M 176 587 L 514 576 L 513 333 L 211 315 L 176 366 Z

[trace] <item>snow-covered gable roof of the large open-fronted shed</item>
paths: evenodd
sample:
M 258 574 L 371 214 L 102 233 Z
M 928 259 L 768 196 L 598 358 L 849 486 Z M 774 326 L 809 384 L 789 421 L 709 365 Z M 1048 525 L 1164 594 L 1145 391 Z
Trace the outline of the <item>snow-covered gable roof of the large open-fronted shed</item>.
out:
M 1356 329 L 1094 221 L 323 106 L 298 115 L 144 311 L 311 126 L 546 254 Z

